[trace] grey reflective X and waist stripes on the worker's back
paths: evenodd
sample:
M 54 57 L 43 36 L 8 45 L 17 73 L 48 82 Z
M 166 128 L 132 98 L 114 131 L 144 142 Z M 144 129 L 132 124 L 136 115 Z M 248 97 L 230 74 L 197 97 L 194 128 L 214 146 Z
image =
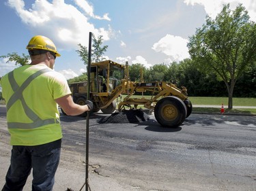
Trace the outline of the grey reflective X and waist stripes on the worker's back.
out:
M 7 112 L 14 105 L 14 103 L 18 100 L 21 101 L 23 105 L 23 109 L 25 111 L 25 114 L 29 119 L 31 119 L 33 122 L 32 123 L 21 123 L 21 122 L 8 122 L 8 128 L 23 128 L 23 129 L 28 129 L 28 128 L 37 128 L 40 126 L 44 126 L 47 124 L 59 124 L 59 120 L 52 118 L 52 119 L 46 119 L 42 120 L 40 119 L 39 116 L 35 114 L 35 112 L 29 108 L 27 103 L 25 102 L 25 99 L 23 97 L 23 90 L 29 86 L 29 84 L 35 79 L 35 77 L 38 77 L 39 75 L 46 73 L 48 71 L 51 71 L 51 69 L 41 69 L 39 71 L 36 71 L 32 75 L 30 75 L 25 82 L 21 86 L 18 86 L 17 82 L 14 79 L 14 72 L 8 73 L 8 80 L 10 82 L 10 85 L 12 87 L 12 90 L 14 91 L 14 94 L 12 94 L 12 97 L 10 97 L 6 109 Z

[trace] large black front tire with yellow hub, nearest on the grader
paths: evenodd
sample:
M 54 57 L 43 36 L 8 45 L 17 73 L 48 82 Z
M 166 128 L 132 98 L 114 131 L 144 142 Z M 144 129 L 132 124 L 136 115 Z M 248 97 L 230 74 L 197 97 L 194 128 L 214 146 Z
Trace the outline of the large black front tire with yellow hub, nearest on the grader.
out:
M 160 125 L 177 127 L 186 119 L 186 105 L 177 97 L 164 97 L 156 103 L 154 115 Z

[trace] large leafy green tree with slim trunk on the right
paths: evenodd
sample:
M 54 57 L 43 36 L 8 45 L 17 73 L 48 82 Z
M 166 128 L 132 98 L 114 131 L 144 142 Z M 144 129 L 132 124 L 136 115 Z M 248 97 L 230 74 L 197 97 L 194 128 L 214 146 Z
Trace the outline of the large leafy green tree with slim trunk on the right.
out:
M 249 20 L 242 5 L 231 12 L 229 4 L 213 20 L 190 37 L 188 49 L 193 63 L 204 73 L 215 73 L 223 80 L 229 96 L 228 107 L 233 108 L 233 89 L 238 78 L 256 59 L 256 26 Z

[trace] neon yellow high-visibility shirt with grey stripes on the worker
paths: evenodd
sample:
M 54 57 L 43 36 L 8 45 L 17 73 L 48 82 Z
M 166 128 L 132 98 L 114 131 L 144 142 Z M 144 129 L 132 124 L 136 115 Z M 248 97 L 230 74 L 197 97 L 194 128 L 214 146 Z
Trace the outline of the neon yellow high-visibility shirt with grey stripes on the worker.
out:
M 63 75 L 46 65 L 23 66 L 1 79 L 11 145 L 42 145 L 62 138 L 55 99 L 70 94 Z

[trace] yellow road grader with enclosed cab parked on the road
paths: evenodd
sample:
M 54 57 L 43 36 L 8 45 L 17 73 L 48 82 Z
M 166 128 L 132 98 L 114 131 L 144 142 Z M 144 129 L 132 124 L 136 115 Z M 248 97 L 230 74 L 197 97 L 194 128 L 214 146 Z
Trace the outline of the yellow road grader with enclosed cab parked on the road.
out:
M 72 83 L 70 90 L 74 103 L 85 105 L 89 99 L 94 103 L 94 112 L 101 110 L 103 114 L 112 114 L 116 110 L 151 109 L 161 126 L 177 127 L 193 109 L 184 86 L 177 88 L 169 82 L 130 81 L 128 62 L 126 65 L 111 60 L 91 63 L 89 82 L 88 98 L 87 82 Z

